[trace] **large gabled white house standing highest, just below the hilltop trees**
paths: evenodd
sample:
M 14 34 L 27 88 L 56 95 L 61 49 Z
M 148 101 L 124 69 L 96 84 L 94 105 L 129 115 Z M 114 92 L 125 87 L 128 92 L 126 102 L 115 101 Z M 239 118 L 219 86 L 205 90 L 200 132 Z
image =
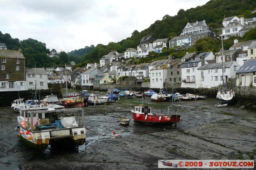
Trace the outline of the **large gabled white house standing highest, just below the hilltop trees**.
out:
M 188 22 L 180 35 L 193 34 L 204 30 L 208 30 L 205 20 L 194 23 Z

